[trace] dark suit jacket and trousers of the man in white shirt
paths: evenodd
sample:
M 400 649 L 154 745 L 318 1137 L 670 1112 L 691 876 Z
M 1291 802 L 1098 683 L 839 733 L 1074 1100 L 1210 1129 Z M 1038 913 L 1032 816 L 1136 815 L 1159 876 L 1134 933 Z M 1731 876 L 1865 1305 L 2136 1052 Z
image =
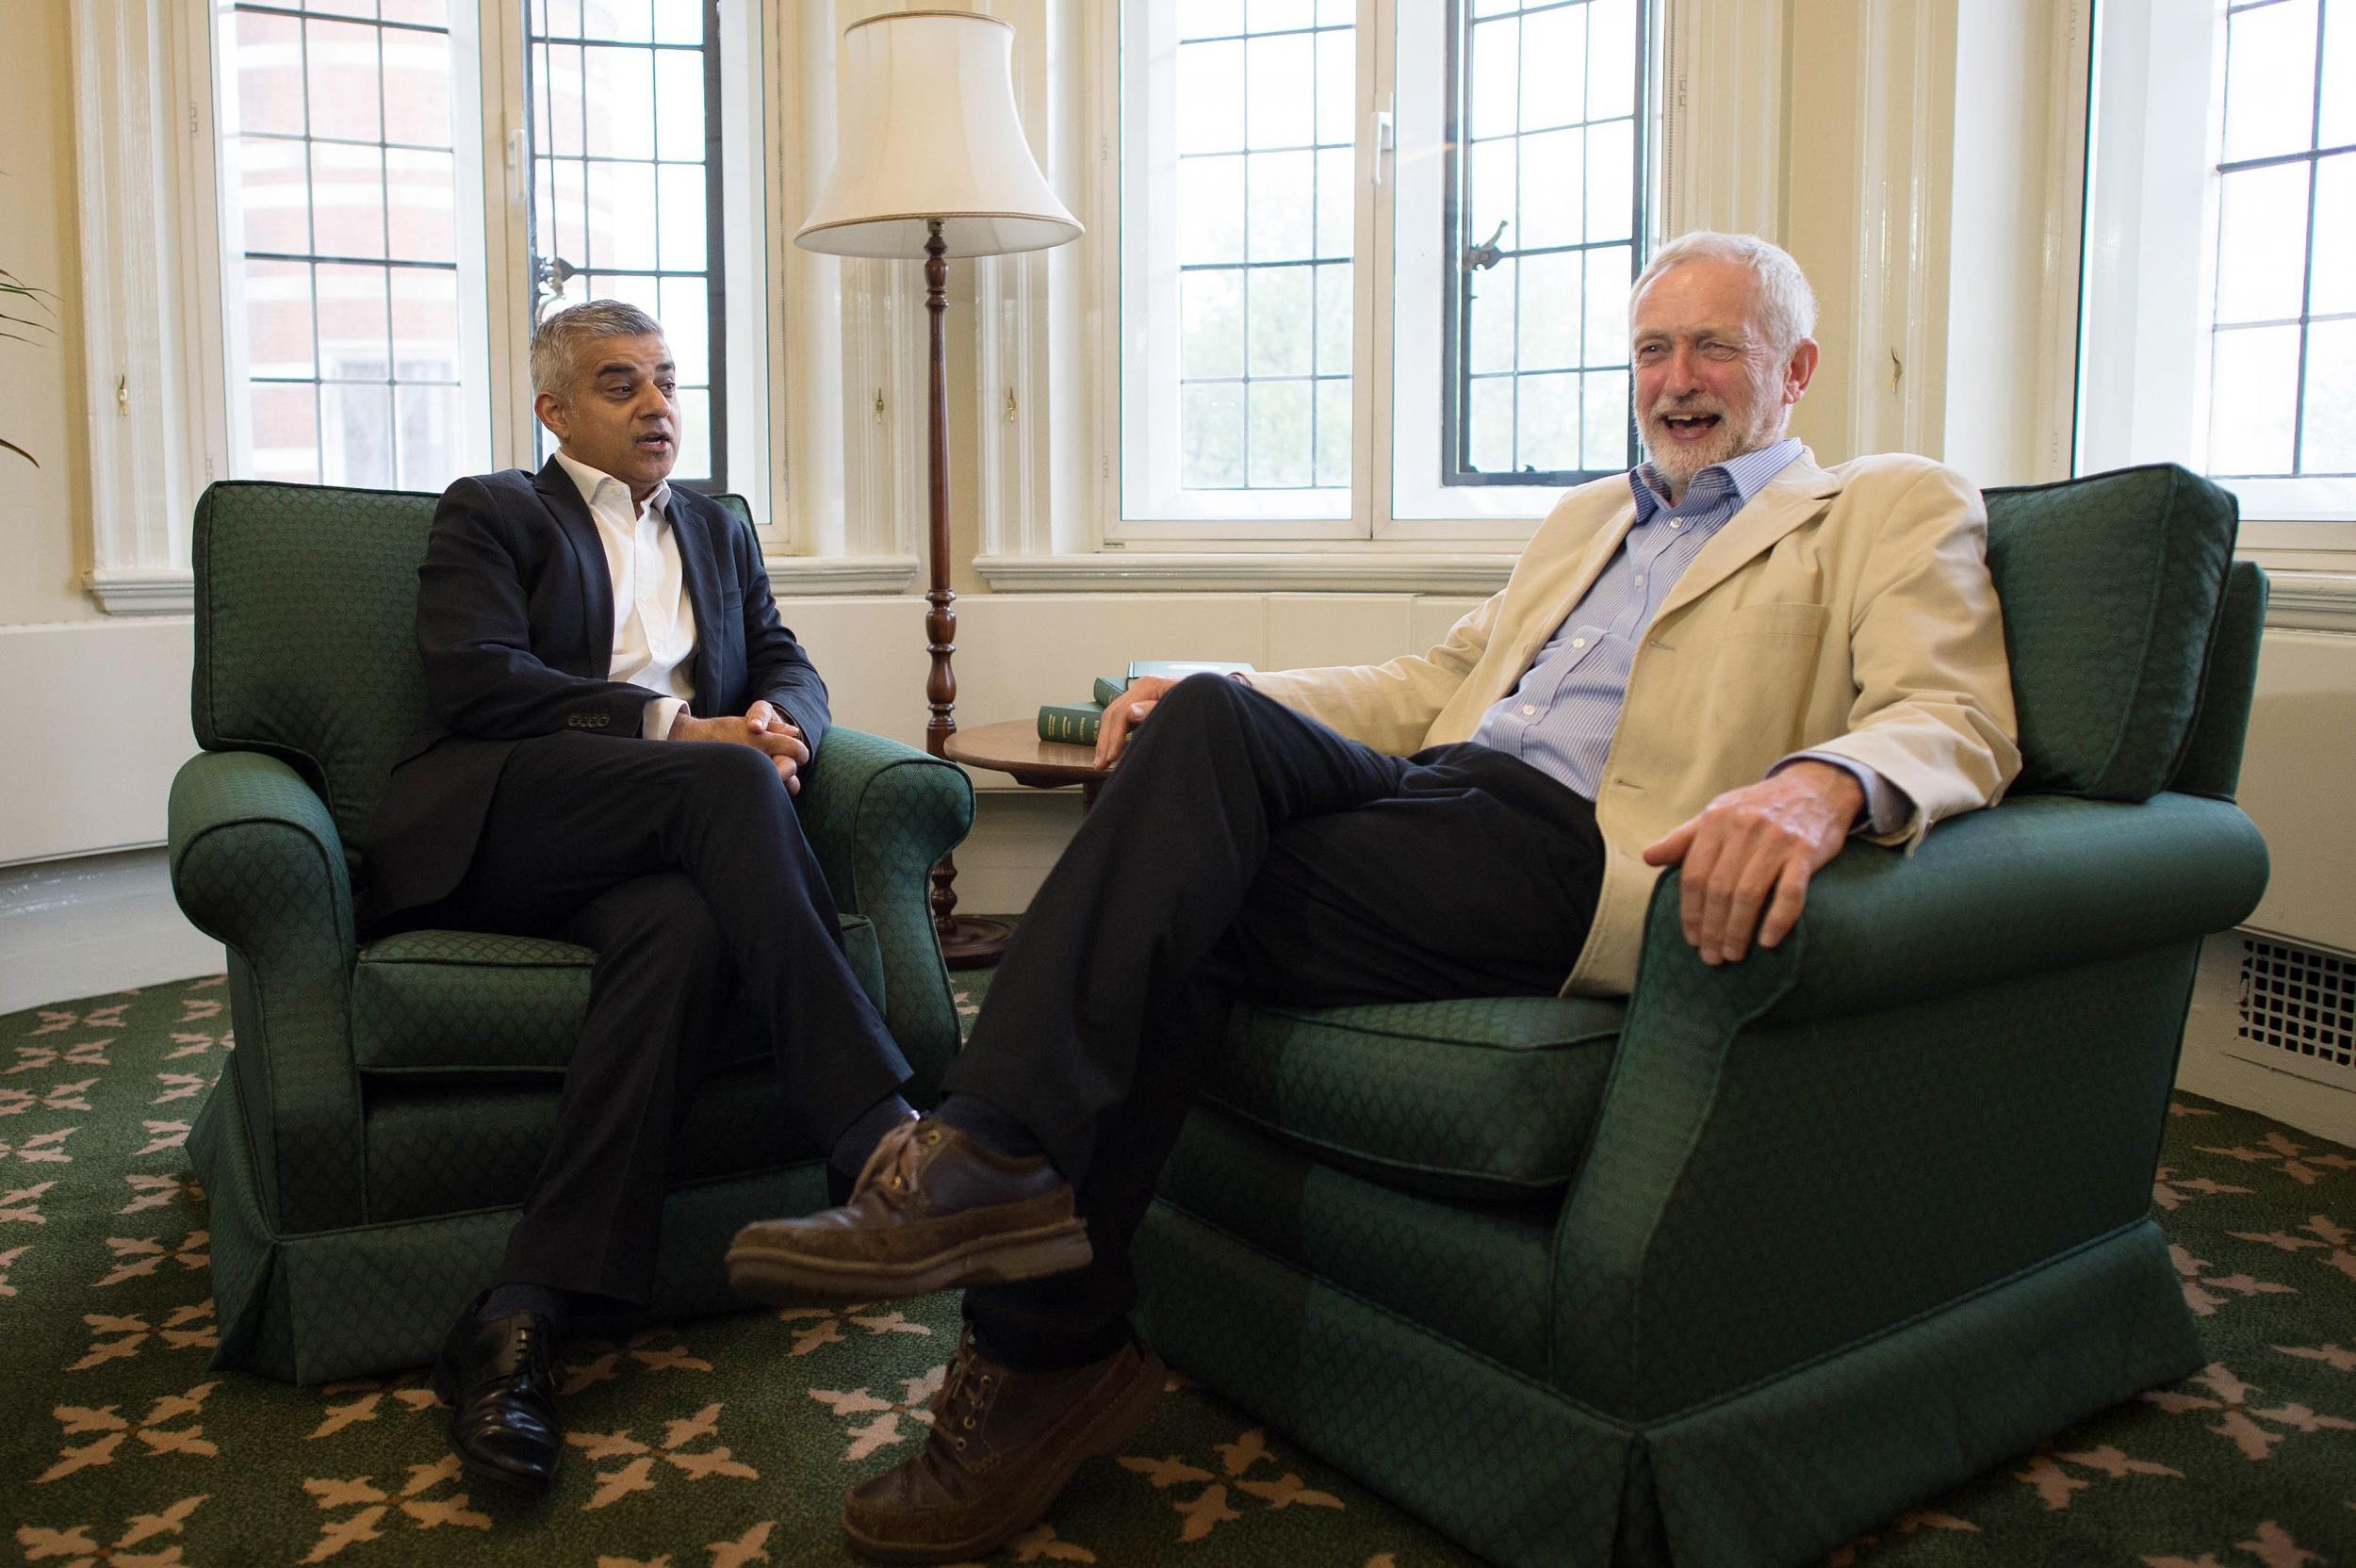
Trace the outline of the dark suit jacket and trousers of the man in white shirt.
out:
M 690 711 L 766 697 L 810 744 L 803 779 L 818 777 L 827 687 L 777 619 L 752 530 L 679 487 L 667 516 L 695 612 Z M 556 1142 L 504 1278 L 646 1302 L 669 1142 L 723 998 L 756 1015 L 820 1149 L 905 1083 L 907 1062 L 843 958 L 770 760 L 641 739 L 660 692 L 608 678 L 605 549 L 554 457 L 443 494 L 417 570 L 417 650 L 431 718 L 377 808 L 363 925 L 596 949 Z

